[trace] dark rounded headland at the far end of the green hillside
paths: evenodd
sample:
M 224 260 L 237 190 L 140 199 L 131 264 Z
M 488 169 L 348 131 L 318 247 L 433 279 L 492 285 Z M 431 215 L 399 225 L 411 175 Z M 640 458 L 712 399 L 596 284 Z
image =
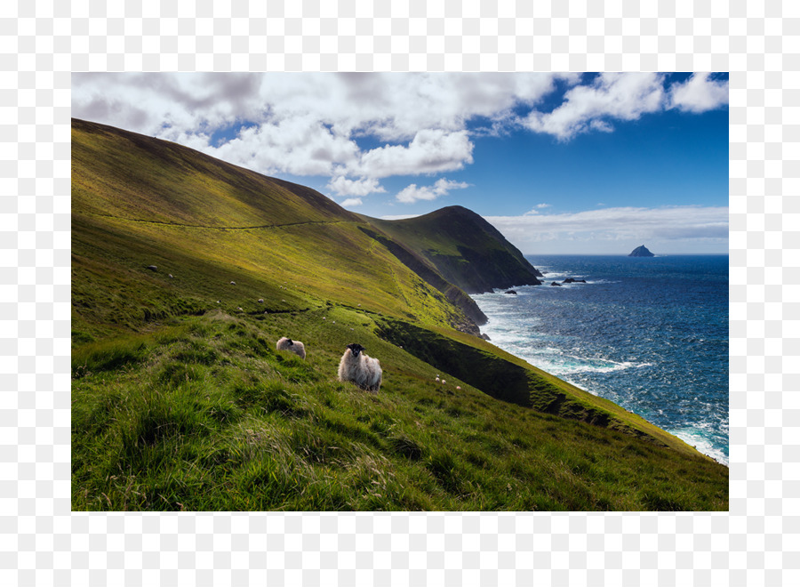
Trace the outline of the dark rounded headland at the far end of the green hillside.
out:
M 401 221 L 363 218 L 428 260 L 442 277 L 468 294 L 541 283 L 539 270 L 516 246 L 462 206 L 448 206 Z

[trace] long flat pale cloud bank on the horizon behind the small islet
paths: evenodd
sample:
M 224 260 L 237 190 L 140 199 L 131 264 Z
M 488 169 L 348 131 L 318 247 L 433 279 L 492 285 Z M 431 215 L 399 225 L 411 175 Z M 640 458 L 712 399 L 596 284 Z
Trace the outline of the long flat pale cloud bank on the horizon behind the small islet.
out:
M 615 207 L 577 213 L 487 216 L 522 250 L 545 240 L 717 239 L 728 237 L 728 208 L 722 206 Z

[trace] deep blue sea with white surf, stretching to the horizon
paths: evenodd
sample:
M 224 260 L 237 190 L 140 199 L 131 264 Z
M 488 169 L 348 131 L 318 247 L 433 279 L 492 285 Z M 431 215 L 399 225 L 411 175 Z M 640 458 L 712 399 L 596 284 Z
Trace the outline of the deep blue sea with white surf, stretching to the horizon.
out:
M 472 296 L 492 343 L 728 464 L 728 255 L 526 258 L 544 285 Z

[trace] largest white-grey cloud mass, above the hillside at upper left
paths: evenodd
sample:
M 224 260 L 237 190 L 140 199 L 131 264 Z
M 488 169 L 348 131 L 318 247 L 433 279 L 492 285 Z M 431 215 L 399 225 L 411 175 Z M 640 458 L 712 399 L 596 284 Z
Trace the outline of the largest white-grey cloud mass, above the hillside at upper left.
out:
M 470 119 L 508 121 L 516 105 L 532 106 L 559 80 L 576 79 L 513 73 L 76 73 L 72 109 L 75 117 L 177 141 L 260 173 L 333 177 L 343 169 L 351 180 L 380 179 L 469 165 Z M 361 149 L 357 141 L 366 136 L 391 144 Z

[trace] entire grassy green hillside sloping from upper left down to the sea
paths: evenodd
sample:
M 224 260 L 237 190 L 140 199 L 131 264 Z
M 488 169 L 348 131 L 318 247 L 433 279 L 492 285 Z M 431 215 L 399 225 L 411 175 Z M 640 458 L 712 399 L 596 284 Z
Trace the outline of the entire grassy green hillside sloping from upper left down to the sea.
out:
M 442 236 L 461 210 L 404 240 L 73 121 L 73 509 L 726 510 L 727 468 L 468 334 L 479 316 L 432 261 L 484 262 L 463 261 L 480 223 Z M 377 395 L 336 381 L 348 342 L 380 358 Z

